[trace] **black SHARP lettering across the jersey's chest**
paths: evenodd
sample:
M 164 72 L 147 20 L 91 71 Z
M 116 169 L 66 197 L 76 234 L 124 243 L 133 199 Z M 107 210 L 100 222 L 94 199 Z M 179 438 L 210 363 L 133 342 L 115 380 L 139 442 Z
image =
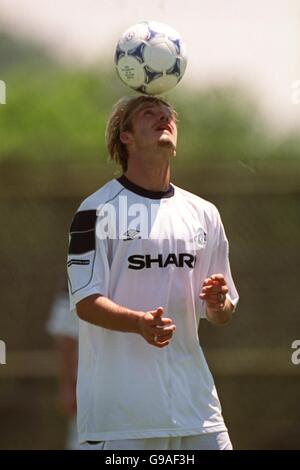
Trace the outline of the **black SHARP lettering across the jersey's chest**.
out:
M 156 257 L 151 255 L 132 255 L 129 256 L 128 262 L 129 269 L 144 269 L 152 268 L 153 266 L 166 268 L 170 264 L 173 264 L 177 268 L 184 268 L 185 266 L 194 268 L 196 256 L 190 253 L 179 253 L 178 255 L 176 255 L 176 253 L 169 253 L 165 257 L 161 253 Z

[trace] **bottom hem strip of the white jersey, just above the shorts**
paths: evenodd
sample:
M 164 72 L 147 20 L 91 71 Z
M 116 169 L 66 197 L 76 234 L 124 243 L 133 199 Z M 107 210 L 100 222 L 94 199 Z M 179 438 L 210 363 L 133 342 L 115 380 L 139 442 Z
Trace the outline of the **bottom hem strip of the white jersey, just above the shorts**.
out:
M 158 437 L 181 437 L 181 436 L 195 436 L 198 434 L 207 434 L 211 432 L 227 431 L 224 423 L 215 426 L 206 426 L 205 428 L 188 428 L 188 429 L 158 429 L 152 431 L 124 431 L 124 432 L 97 432 L 97 433 L 82 433 L 79 435 L 79 442 L 81 444 L 86 441 L 118 441 L 122 439 L 147 439 Z

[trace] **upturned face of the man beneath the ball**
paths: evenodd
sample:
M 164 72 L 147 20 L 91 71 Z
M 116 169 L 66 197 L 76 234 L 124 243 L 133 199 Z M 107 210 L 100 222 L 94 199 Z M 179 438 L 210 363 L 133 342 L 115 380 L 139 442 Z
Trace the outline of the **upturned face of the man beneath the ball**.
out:
M 135 150 L 170 149 L 177 144 L 177 126 L 172 111 L 162 103 L 142 103 L 133 113 L 128 145 Z

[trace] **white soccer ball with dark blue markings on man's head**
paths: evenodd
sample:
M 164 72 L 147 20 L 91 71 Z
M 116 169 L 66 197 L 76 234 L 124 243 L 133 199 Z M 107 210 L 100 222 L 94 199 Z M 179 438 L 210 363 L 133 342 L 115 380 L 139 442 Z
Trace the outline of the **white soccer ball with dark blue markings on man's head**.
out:
M 121 36 L 115 63 L 125 85 L 148 95 L 159 95 L 181 80 L 187 64 L 186 49 L 173 28 L 144 21 Z

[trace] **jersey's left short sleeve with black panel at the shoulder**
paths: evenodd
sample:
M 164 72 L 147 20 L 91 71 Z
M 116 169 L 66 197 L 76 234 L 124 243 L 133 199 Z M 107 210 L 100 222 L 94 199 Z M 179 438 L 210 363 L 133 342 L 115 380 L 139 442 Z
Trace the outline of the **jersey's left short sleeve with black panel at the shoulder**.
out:
M 85 297 L 108 294 L 108 241 L 97 238 L 96 221 L 96 210 L 79 211 L 70 228 L 67 270 L 71 310 Z

